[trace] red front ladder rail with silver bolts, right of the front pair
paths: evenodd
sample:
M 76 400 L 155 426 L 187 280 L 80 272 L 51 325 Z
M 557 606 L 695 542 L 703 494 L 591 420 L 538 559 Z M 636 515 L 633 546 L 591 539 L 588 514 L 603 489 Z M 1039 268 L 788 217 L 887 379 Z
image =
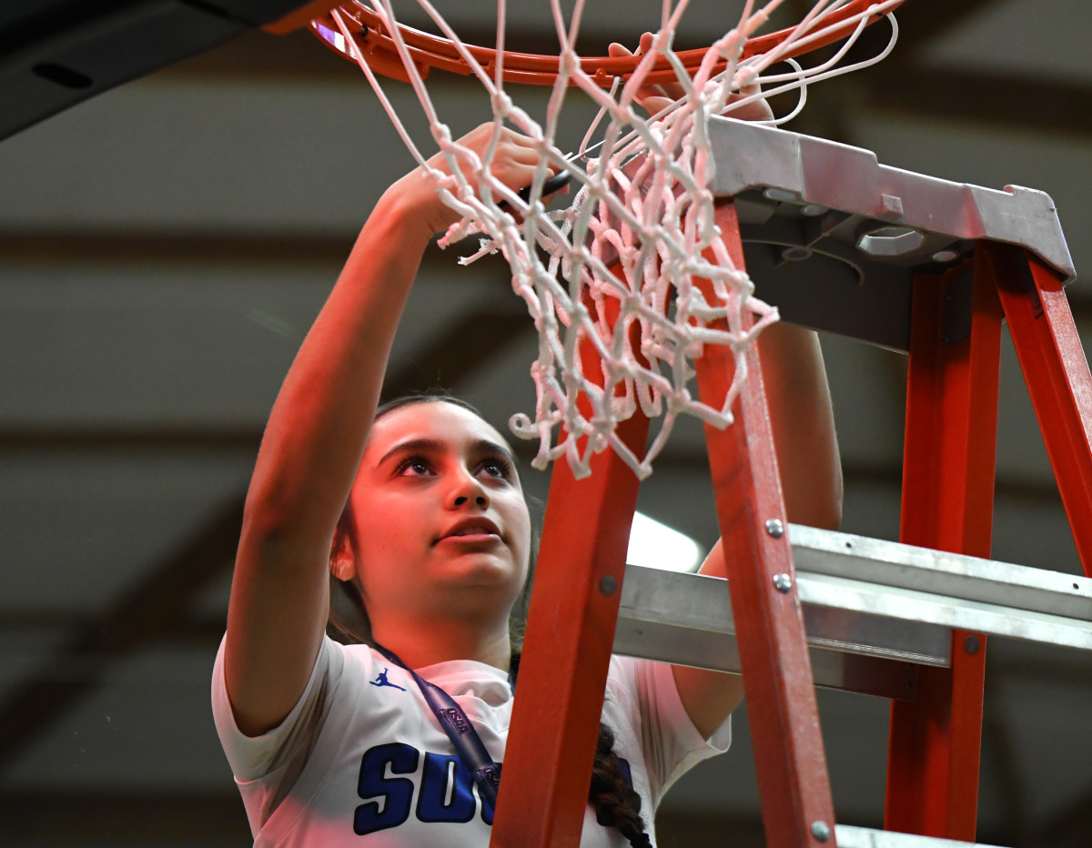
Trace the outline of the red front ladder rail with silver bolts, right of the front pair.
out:
M 719 202 L 716 214 L 741 267 L 735 205 Z M 710 297 L 711 286 L 703 288 Z M 762 821 L 771 848 L 832 846 L 834 808 L 757 347 L 746 356 L 747 380 L 734 407 L 736 421 L 726 430 L 707 427 L 705 441 L 724 549 L 732 552 L 728 583 Z M 696 368 L 702 401 L 720 408 L 732 379 L 732 353 L 708 346 Z M 768 519 L 780 521 L 784 535 L 768 533 Z M 792 590 L 779 592 L 775 574 L 790 575 Z M 828 841 L 812 835 L 815 822 L 830 827 Z

